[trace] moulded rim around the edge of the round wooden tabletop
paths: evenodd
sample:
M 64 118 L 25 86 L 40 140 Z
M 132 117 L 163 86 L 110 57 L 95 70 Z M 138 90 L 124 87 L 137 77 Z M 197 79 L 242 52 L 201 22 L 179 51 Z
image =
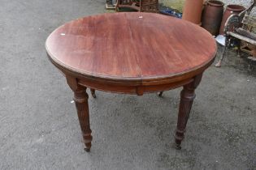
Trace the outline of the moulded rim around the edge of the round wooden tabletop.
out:
M 99 15 L 102 15 L 102 14 L 99 14 Z M 106 15 L 106 14 L 104 14 L 104 15 Z M 95 15 L 90 15 L 90 16 L 95 16 Z M 89 17 L 89 16 L 85 16 L 85 17 Z M 79 19 L 83 19 L 85 17 L 81 17 Z M 72 21 L 74 21 L 74 20 L 76 20 L 76 19 L 73 19 Z M 70 22 L 72 22 L 72 21 L 70 21 Z M 184 20 L 184 22 L 188 22 L 188 21 Z M 66 24 L 66 23 L 64 23 L 64 24 Z M 194 23 L 192 23 L 192 24 L 194 24 Z M 53 34 L 57 29 L 63 27 L 63 25 L 59 26 L 58 28 L 55 28 L 54 31 L 50 33 L 50 35 Z M 196 25 L 196 24 L 194 24 L 194 25 Z M 200 74 L 204 70 L 206 70 L 215 61 L 215 57 L 217 54 L 217 43 L 215 41 L 215 53 L 212 54 L 210 59 L 207 60 L 206 62 L 203 62 L 201 65 L 195 66 L 189 70 L 184 70 L 184 71 L 181 71 L 181 72 L 175 73 L 175 74 L 165 74 L 165 75 L 158 75 L 158 76 L 117 77 L 117 76 L 93 74 L 91 72 L 80 71 L 71 66 L 67 66 L 63 62 L 59 62 L 59 60 L 56 57 L 54 57 L 54 55 L 52 55 L 47 48 L 47 41 L 48 41 L 48 38 L 50 37 L 50 35 L 46 39 L 45 47 L 46 47 L 47 57 L 49 58 L 50 62 L 52 62 L 54 64 L 54 66 L 58 67 L 64 73 L 72 74 L 73 76 L 83 77 L 83 78 L 87 78 L 87 79 L 98 79 L 101 81 L 113 82 L 113 83 L 127 83 L 127 82 L 132 83 L 133 82 L 136 84 L 137 83 L 161 84 L 161 83 L 171 83 L 171 82 L 175 82 L 177 80 L 179 81 L 182 79 L 192 78 L 193 76 Z M 184 77 L 184 78 L 182 78 L 182 77 Z

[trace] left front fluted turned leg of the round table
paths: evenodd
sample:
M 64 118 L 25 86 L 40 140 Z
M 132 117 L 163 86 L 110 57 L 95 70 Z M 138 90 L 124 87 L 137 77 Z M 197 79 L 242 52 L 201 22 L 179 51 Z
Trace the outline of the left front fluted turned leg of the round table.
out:
M 85 151 L 90 151 L 91 142 L 93 140 L 92 130 L 89 125 L 89 105 L 88 105 L 88 94 L 86 92 L 86 87 L 81 87 L 76 83 L 76 79 L 67 78 L 68 85 L 74 91 L 74 101 L 76 103 L 76 111 L 80 123 L 80 129 L 82 131 Z

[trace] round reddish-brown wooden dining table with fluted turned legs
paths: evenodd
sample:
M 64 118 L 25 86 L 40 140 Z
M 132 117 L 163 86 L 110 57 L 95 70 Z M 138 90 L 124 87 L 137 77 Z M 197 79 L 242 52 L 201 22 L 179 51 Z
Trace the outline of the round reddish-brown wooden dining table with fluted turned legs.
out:
M 142 96 L 183 87 L 175 132 L 180 149 L 195 89 L 216 49 L 215 39 L 196 24 L 142 12 L 75 19 L 46 40 L 50 62 L 74 92 L 85 151 L 93 139 L 87 88 L 94 96 L 95 90 Z

